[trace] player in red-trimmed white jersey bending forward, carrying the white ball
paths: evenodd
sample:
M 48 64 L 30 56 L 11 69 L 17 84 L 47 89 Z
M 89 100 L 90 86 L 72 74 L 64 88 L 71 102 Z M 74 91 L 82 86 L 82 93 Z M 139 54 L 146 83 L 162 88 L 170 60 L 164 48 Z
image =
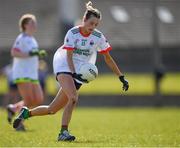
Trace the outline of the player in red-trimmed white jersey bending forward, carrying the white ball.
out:
M 54 73 L 61 88 L 50 105 L 39 106 L 29 110 L 23 107 L 15 119 L 13 127 L 31 116 L 55 114 L 64 107 L 62 116 L 62 127 L 58 141 L 73 141 L 75 136 L 68 132 L 73 109 L 78 101 L 78 91 L 86 80 L 78 74 L 80 66 L 85 62 L 95 63 L 96 53 L 104 55 L 106 64 L 119 77 L 123 83 L 123 89 L 128 90 L 128 81 L 124 79 L 109 51 L 111 46 L 104 35 L 95 29 L 101 19 L 100 12 L 92 7 L 92 3 L 86 5 L 86 12 L 82 25 L 70 29 L 65 37 L 64 44 L 56 51 L 53 60 Z

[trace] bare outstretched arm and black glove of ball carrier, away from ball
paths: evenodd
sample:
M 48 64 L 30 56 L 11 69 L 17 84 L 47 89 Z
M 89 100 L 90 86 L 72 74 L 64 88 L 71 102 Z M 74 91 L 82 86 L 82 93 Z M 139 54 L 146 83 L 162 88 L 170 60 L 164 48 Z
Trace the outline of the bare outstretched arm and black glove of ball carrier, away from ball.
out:
M 129 83 L 125 79 L 125 76 L 123 75 L 123 73 L 118 68 L 114 59 L 112 58 L 109 52 L 105 52 L 103 55 L 104 55 L 104 60 L 106 64 L 108 65 L 108 67 L 119 77 L 119 80 L 123 83 L 123 90 L 127 91 L 129 88 Z

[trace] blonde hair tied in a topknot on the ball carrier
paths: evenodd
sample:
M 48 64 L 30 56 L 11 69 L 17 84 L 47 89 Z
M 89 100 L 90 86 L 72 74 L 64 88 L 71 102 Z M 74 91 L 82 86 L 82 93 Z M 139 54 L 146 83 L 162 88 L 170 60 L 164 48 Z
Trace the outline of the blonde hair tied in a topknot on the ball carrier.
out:
M 101 19 L 101 12 L 92 6 L 92 2 L 86 3 L 86 12 L 84 13 L 84 19 L 88 20 L 91 16 Z

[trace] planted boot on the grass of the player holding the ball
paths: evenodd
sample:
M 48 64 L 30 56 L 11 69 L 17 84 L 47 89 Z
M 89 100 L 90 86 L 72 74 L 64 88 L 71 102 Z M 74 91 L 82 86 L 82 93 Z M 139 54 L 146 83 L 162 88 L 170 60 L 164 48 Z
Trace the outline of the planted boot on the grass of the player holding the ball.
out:
M 61 132 L 58 136 L 58 141 L 74 141 L 75 136 L 70 135 L 70 133 L 67 130 L 64 130 Z

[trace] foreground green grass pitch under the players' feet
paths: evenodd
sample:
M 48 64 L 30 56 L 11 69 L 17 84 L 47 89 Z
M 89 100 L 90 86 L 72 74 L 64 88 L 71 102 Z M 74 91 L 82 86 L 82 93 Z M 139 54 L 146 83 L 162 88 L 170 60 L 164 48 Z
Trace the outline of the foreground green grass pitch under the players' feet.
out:
M 26 121 L 27 132 L 16 132 L 0 110 L 3 146 L 180 146 L 179 108 L 77 108 L 70 129 L 75 142 L 57 142 L 60 113 Z

